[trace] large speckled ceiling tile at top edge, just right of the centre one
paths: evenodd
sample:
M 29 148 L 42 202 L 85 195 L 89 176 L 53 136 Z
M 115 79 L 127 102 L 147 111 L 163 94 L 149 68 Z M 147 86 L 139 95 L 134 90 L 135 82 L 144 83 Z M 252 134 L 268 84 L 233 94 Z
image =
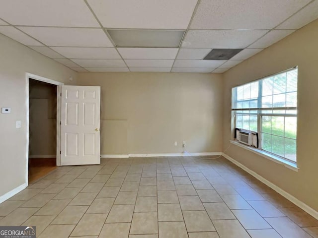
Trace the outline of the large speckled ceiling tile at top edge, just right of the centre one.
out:
M 272 29 L 310 1 L 201 0 L 190 29 Z

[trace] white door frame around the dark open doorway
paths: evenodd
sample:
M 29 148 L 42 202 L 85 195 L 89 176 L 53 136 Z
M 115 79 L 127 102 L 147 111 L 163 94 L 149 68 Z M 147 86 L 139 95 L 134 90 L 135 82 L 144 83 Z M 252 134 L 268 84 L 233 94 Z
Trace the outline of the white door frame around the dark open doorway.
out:
M 45 78 L 32 73 L 25 73 L 26 79 L 26 164 L 25 164 L 25 183 L 26 186 L 29 184 L 29 79 L 35 79 L 37 81 L 56 85 L 56 165 L 61 166 L 61 86 L 64 83 L 55 81 L 49 78 Z

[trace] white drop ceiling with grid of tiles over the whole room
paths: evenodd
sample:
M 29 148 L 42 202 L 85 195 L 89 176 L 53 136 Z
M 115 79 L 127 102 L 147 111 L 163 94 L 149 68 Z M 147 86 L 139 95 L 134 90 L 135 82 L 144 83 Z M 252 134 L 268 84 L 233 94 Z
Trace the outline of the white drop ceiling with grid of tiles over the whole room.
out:
M 318 0 L 0 0 L 0 33 L 78 72 L 223 73 L 318 18 Z M 241 49 L 203 60 L 213 49 Z

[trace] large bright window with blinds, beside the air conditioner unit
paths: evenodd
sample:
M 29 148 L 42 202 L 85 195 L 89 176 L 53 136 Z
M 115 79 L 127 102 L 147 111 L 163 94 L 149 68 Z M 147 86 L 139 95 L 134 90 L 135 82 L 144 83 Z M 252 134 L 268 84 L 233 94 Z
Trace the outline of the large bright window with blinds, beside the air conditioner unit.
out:
M 232 89 L 235 127 L 258 132 L 259 149 L 296 162 L 297 78 L 292 69 Z

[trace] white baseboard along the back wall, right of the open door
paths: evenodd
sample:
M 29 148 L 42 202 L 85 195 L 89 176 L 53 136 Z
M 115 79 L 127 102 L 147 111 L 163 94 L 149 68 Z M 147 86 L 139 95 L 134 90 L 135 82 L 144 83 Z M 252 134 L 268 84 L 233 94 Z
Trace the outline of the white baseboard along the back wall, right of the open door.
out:
M 222 155 L 222 152 L 101 155 L 100 157 L 101 158 L 130 158 L 130 157 L 183 157 L 183 156 L 213 156 L 213 155 Z

